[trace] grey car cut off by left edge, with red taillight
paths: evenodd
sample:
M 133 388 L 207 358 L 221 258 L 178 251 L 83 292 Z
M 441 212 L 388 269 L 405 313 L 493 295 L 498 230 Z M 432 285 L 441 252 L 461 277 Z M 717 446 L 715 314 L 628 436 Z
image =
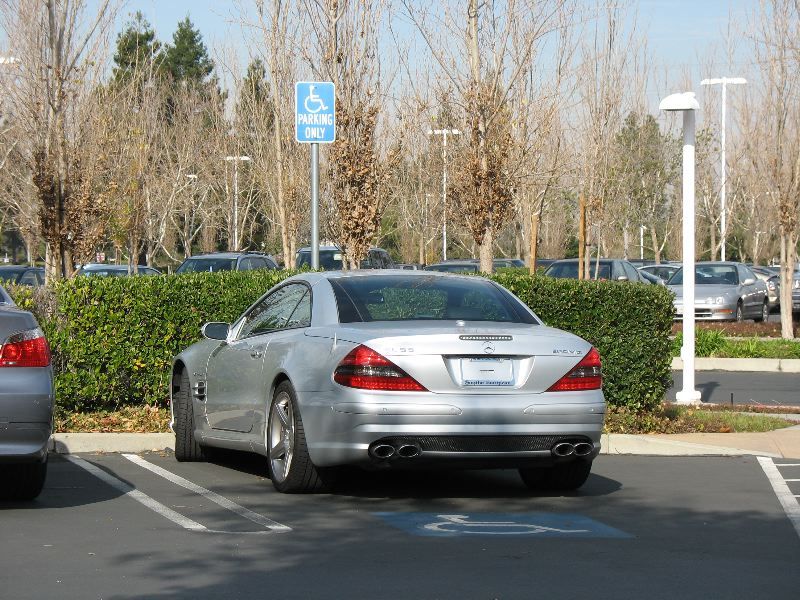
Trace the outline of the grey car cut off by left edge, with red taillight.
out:
M 50 347 L 0 287 L 0 499 L 32 500 L 47 476 L 53 423 Z

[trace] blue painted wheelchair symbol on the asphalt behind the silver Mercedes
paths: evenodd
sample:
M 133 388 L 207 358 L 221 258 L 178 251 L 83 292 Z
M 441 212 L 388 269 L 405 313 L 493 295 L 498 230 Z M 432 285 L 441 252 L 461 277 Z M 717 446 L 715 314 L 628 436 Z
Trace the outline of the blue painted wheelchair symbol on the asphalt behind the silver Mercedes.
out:
M 631 537 L 619 529 L 609 527 L 582 515 L 572 514 L 374 513 L 374 515 L 393 527 L 420 536 Z

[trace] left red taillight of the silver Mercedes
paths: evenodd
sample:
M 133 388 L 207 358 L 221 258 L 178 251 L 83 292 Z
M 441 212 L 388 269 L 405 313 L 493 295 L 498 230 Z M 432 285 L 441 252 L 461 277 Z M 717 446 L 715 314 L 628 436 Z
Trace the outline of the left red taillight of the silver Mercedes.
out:
M 361 390 L 427 391 L 403 369 L 366 346 L 353 348 L 342 359 L 333 372 L 333 380 Z

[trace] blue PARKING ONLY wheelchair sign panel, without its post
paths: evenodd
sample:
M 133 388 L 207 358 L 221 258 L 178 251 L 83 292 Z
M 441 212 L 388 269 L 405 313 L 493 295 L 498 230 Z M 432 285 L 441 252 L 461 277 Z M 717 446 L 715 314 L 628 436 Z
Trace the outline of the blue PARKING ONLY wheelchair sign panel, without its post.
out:
M 298 81 L 295 91 L 295 140 L 336 141 L 336 91 L 330 81 Z

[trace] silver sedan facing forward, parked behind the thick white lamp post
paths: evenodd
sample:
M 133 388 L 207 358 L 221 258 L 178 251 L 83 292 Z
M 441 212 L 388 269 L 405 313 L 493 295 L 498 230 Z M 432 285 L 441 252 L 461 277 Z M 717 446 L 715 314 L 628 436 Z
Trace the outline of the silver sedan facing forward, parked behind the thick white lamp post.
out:
M 675 293 L 675 318 L 683 319 L 683 269 L 667 282 Z M 699 262 L 695 266 L 695 318 L 704 321 L 765 321 L 767 284 L 742 263 Z

